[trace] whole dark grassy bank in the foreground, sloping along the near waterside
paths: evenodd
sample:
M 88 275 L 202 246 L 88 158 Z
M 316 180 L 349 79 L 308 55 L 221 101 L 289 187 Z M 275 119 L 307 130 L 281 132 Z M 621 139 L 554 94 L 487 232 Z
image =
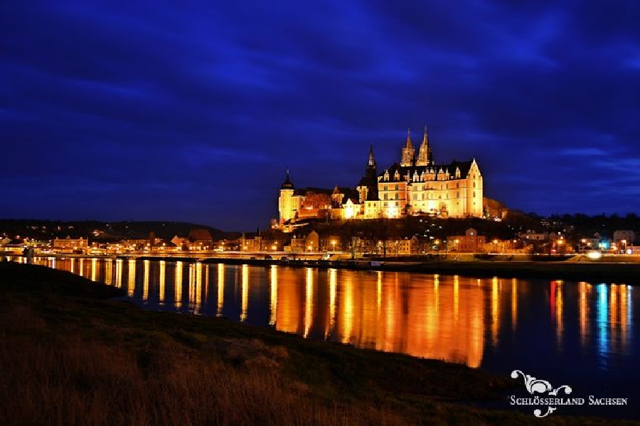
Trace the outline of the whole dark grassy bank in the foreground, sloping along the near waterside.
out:
M 472 408 L 504 398 L 511 379 L 147 312 L 118 295 L 63 271 L 0 263 L 1 425 L 614 423 Z

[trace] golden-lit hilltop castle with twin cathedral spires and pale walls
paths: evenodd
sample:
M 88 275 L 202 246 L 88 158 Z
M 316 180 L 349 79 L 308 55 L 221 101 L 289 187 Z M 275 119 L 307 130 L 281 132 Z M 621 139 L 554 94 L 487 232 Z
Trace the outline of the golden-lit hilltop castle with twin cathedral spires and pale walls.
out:
M 373 146 L 356 189 L 295 189 L 289 172 L 278 197 L 279 225 L 303 219 L 378 219 L 428 214 L 482 217 L 482 175 L 476 160 L 435 164 L 427 131 L 417 155 L 407 132 L 400 164 L 378 173 Z

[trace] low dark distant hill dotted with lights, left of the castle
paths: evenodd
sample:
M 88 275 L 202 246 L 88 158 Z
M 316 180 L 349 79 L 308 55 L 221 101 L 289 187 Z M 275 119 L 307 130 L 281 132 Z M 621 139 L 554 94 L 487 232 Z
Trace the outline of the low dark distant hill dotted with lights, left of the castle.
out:
M 188 222 L 99 222 L 59 221 L 41 219 L 0 219 L 0 234 L 11 237 L 48 240 L 54 238 L 89 238 L 92 241 L 144 239 L 153 232 L 156 237 L 171 239 L 188 236 L 192 229 L 206 229 L 213 239 L 228 238 L 228 234 L 211 226 Z

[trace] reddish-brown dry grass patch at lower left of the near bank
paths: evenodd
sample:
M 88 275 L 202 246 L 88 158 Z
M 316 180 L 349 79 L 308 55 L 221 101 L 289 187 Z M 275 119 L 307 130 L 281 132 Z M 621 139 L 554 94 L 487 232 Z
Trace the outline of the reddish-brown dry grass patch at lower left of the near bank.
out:
M 0 308 L 2 425 L 405 425 L 398 413 L 326 403 L 279 374 L 286 349 L 259 340 L 214 351 L 132 349 L 51 332 L 26 307 Z M 247 353 L 250 354 L 247 356 Z M 240 354 L 243 354 L 240 356 Z

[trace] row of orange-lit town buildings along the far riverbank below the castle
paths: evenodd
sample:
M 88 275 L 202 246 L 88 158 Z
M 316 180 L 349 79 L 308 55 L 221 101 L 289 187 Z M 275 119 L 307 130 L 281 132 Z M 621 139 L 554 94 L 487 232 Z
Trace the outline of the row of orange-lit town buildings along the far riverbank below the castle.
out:
M 244 253 L 285 252 L 350 252 L 353 254 L 396 254 L 408 255 L 439 251 L 459 253 L 516 253 L 523 251 L 545 251 L 546 253 L 574 253 L 583 251 L 607 251 L 612 253 L 635 253 L 636 233 L 632 230 L 617 230 L 612 239 L 602 239 L 598 234 L 590 238 L 567 237 L 558 232 L 526 231 L 513 239 L 488 239 L 476 229 L 467 229 L 459 235 L 446 237 L 407 236 L 393 238 L 373 238 L 366 236 L 340 236 L 319 234 L 269 233 L 245 236 L 238 239 L 214 241 L 206 229 L 193 229 L 188 236 L 174 236 L 171 240 L 159 239 L 152 233 L 146 239 L 123 239 L 101 243 L 85 238 L 53 239 L 50 244 L 39 244 L 41 251 L 55 253 L 188 253 L 223 252 Z M 5 241 L 6 242 L 6 241 Z M 33 246 L 34 244 L 29 244 Z

